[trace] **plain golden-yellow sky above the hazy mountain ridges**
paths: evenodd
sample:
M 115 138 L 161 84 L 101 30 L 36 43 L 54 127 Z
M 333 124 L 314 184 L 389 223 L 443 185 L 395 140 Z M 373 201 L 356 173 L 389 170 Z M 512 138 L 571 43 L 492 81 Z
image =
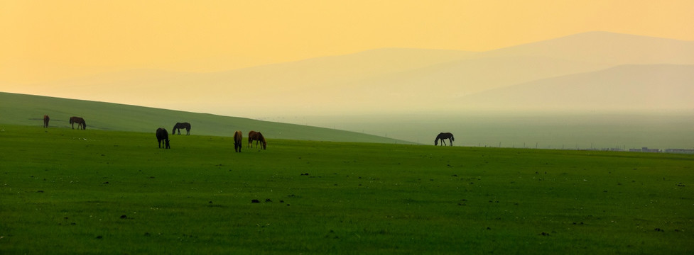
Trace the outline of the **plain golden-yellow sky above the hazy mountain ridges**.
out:
M 594 30 L 694 40 L 692 13 L 692 0 L 0 0 L 0 81 L 212 71 L 382 47 L 484 51 Z

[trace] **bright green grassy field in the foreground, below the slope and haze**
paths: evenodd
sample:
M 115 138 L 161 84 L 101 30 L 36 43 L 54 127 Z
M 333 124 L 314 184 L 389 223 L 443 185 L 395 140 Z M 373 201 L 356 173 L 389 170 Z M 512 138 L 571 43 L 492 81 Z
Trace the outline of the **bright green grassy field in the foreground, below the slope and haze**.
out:
M 171 147 L 154 130 L 0 125 L 0 254 L 694 252 L 694 155 Z

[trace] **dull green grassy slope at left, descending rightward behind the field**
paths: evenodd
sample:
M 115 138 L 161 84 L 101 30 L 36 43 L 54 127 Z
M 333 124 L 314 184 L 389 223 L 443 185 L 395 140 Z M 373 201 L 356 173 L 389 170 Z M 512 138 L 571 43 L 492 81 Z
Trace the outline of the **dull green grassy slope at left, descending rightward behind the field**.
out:
M 171 128 L 177 122 L 191 123 L 193 135 L 232 136 L 234 131 L 261 131 L 266 138 L 379 143 L 411 143 L 357 132 L 315 128 L 304 125 L 273 123 L 248 118 L 234 118 L 204 113 L 188 113 L 158 108 L 126 106 L 115 103 L 80 101 L 65 98 L 9 94 L 0 92 L 0 124 L 43 125 L 43 115 L 50 116 L 50 126 L 70 128 L 70 116 L 87 121 L 87 129 L 151 132 Z

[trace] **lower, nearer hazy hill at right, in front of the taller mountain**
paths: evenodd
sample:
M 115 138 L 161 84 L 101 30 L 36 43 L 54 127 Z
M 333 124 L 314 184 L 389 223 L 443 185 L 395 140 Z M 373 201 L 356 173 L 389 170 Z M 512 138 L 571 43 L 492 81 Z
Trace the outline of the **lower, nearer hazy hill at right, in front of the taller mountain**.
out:
M 694 65 L 622 65 L 504 87 L 458 100 L 470 108 L 694 109 Z

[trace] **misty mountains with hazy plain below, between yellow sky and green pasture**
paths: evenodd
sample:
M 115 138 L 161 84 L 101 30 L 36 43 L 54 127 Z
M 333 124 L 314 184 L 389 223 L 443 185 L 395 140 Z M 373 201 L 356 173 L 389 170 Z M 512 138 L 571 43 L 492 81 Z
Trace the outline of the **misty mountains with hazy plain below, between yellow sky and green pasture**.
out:
M 694 144 L 694 42 L 592 32 L 488 52 L 380 49 L 223 72 L 122 70 L 13 93 L 316 125 L 429 144 Z M 96 92 L 98 91 L 98 92 Z M 676 131 L 673 131 L 676 130 Z

